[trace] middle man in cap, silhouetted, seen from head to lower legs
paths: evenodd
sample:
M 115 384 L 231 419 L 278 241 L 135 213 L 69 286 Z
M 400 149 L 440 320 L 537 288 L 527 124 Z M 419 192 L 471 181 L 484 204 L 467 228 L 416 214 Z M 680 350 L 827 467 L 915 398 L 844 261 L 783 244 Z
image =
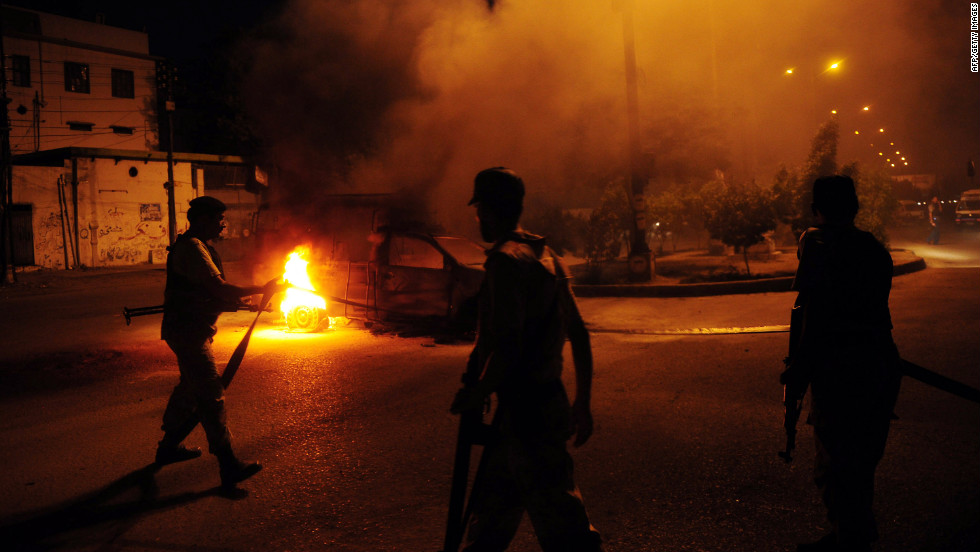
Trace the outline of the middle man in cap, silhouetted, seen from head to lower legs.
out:
M 474 483 L 467 552 L 506 550 L 528 512 L 545 552 L 602 550 L 572 478 L 566 441 L 592 435 L 592 346 L 572 295 L 568 270 L 541 236 L 518 224 L 524 182 L 497 167 L 476 175 L 473 199 L 487 253 L 480 319 L 471 366 L 478 381 L 456 395 L 451 410 L 482 408 L 498 399 L 499 440 L 484 454 Z M 562 349 L 572 343 L 575 402 L 562 384 Z

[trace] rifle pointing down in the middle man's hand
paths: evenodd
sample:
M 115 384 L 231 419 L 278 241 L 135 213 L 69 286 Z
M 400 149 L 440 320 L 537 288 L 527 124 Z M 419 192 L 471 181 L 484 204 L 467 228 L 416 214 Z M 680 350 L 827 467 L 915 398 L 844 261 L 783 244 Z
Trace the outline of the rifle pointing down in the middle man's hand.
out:
M 471 362 L 463 375 L 463 387 L 475 385 L 473 365 Z M 489 403 L 486 405 L 489 406 Z M 452 485 L 449 490 L 449 514 L 446 519 L 446 536 L 442 552 L 458 552 L 463 542 L 466 526 L 469 524 L 473 509 L 473 497 L 478 494 L 478 485 L 483 480 L 483 472 L 487 462 L 487 445 L 493 440 L 493 426 L 483 423 L 483 412 L 487 408 L 474 408 L 464 411 L 459 416 L 459 434 L 456 438 L 456 455 L 453 460 Z M 473 445 L 483 445 L 480 463 L 473 476 L 473 489 L 469 501 L 466 500 L 466 487 L 470 476 L 470 454 Z M 465 509 L 464 509 L 465 505 Z

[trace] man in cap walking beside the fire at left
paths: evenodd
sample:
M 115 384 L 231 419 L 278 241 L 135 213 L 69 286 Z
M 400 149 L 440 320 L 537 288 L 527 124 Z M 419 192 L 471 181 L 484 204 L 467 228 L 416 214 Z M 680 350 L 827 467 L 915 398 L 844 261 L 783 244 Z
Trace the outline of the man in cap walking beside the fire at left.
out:
M 242 462 L 232 451 L 231 432 L 225 423 L 224 387 L 214 364 L 211 342 L 225 305 L 270 290 L 239 287 L 225 281 L 221 259 L 208 244 L 225 229 L 224 212 L 225 204 L 213 197 L 191 200 L 187 210 L 190 228 L 177 236 L 167 255 L 160 334 L 177 356 L 180 382 L 163 413 L 164 435 L 157 448 L 156 463 L 166 465 L 201 456 L 201 449 L 181 444 L 200 423 L 209 451 L 218 458 L 221 485 L 230 489 L 258 473 L 262 466 Z M 278 287 L 273 291 L 277 290 Z

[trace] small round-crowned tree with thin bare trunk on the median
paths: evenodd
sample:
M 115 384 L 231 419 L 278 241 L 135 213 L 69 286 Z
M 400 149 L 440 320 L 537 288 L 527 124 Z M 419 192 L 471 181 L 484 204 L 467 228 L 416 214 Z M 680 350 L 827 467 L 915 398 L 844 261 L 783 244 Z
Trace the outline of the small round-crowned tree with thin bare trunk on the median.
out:
M 758 187 L 727 186 L 704 198 L 705 228 L 711 237 L 742 250 L 745 272 L 749 269 L 749 247 L 763 241 L 776 227 L 772 198 Z

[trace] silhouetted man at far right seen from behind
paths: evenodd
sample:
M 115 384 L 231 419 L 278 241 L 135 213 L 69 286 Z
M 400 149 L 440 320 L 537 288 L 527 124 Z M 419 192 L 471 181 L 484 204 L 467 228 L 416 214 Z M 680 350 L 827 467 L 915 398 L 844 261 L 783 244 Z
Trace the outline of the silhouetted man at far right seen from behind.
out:
M 819 178 L 816 225 L 800 238 L 793 289 L 803 331 L 781 380 L 794 398 L 810 388 L 814 480 L 831 525 L 819 541 L 799 545 L 802 552 L 869 551 L 878 537 L 875 469 L 901 372 L 888 310 L 892 259 L 873 235 L 854 227 L 857 211 L 849 177 Z

